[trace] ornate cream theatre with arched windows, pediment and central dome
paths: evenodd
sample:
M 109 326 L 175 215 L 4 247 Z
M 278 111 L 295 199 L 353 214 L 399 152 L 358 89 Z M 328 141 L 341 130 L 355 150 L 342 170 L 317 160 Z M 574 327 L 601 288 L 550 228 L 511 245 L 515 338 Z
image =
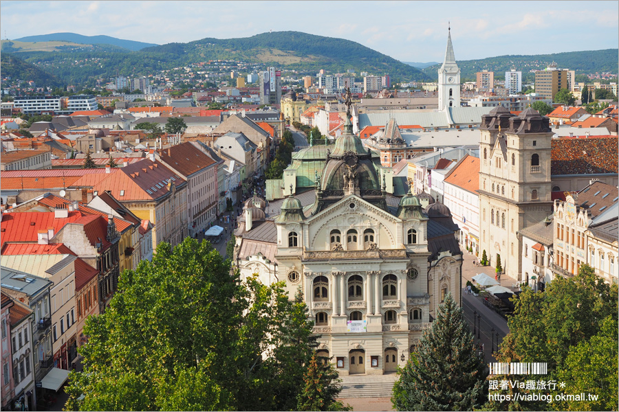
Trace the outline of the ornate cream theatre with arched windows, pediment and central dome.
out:
M 388 194 L 380 160 L 349 121 L 318 170 L 310 192 L 246 202 L 235 233 L 241 277 L 285 281 L 290 297 L 301 290 L 318 350 L 340 374 L 394 373 L 446 294 L 461 299 L 453 222 L 443 205 L 431 218 L 435 205 Z

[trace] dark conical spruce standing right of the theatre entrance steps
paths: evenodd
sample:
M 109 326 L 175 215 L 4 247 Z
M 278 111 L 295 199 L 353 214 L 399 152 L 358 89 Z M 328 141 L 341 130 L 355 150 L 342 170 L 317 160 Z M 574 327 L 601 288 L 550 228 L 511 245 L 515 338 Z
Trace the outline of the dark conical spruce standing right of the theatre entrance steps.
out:
M 391 402 L 398 411 L 470 411 L 488 399 L 488 370 L 450 294 L 419 351 L 398 369 Z

